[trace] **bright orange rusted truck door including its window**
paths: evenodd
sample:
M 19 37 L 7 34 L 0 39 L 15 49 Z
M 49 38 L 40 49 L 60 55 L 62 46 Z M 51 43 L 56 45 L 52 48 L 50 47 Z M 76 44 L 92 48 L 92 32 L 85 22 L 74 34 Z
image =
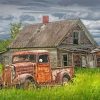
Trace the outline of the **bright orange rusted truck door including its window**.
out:
M 51 82 L 51 68 L 48 54 L 39 55 L 36 75 L 38 83 Z

